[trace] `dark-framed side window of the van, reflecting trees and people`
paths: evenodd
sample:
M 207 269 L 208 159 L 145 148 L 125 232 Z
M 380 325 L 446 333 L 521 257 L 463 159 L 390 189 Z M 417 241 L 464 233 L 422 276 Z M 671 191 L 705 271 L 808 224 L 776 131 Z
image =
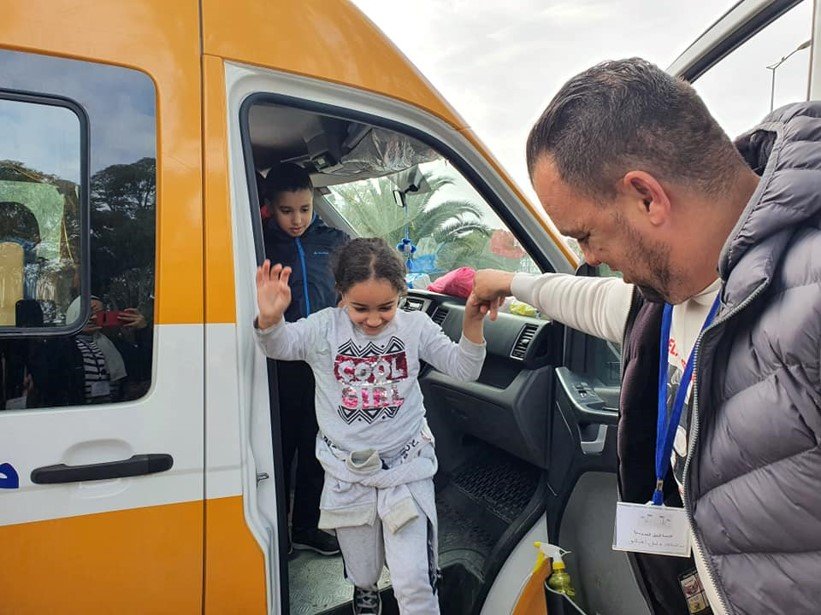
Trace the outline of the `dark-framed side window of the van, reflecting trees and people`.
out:
M 0 410 L 136 399 L 153 361 L 153 82 L 11 51 L 0 74 L 0 326 L 54 330 L 0 339 Z

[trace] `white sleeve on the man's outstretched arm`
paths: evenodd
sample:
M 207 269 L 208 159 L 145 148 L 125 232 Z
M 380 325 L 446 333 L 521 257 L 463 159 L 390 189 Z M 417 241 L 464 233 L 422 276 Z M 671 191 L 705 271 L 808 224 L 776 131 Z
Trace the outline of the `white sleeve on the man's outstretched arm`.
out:
M 564 273 L 517 273 L 513 296 L 552 320 L 621 343 L 633 285 L 620 278 L 586 278 Z

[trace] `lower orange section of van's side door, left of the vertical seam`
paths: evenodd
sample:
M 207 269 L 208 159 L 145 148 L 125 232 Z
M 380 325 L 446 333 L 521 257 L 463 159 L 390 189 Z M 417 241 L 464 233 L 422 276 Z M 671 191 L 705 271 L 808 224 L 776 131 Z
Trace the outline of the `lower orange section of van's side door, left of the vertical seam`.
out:
M 198 612 L 202 508 L 194 501 L 0 527 L 0 612 Z

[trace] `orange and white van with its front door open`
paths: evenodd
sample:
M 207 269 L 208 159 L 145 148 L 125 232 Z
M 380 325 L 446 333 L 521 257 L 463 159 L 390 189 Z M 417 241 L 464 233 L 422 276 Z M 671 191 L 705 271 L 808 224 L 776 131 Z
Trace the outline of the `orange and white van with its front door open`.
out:
M 0 9 L 0 614 L 349 612 L 338 557 L 287 554 L 257 178 L 295 161 L 326 223 L 409 238 L 403 308 L 453 336 L 463 304 L 427 280 L 575 257 L 347 1 Z M 784 20 L 796 48 L 819 32 L 811 0 L 740 2 L 675 70 L 709 76 Z M 789 60 L 804 98 L 812 40 Z M 486 336 L 478 382 L 421 379 L 443 612 L 512 612 L 548 537 L 585 610 L 647 612 L 610 549 L 619 349 L 517 305 Z

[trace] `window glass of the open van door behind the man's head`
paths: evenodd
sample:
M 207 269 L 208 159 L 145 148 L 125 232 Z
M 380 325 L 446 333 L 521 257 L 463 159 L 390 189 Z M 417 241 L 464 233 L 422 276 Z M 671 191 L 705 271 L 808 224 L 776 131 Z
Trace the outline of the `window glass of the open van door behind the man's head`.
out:
M 812 2 L 804 0 L 713 66 L 693 84 L 731 138 L 771 107 L 807 100 Z

